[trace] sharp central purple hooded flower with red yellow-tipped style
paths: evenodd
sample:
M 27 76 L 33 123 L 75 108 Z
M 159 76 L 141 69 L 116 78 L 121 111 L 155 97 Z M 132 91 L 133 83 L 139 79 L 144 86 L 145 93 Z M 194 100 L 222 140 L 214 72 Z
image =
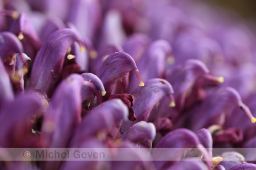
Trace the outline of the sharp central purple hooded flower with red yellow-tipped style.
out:
M 143 80 L 139 74 L 136 63 L 133 58 L 124 52 L 117 52 L 109 55 L 105 61 L 102 62 L 100 66 L 101 69 L 98 69 L 97 76 L 102 80 L 104 84 L 106 95 L 105 99 L 109 98 L 113 85 L 122 78 L 127 72 L 134 70 L 136 76 L 139 79 L 139 86 L 143 86 Z

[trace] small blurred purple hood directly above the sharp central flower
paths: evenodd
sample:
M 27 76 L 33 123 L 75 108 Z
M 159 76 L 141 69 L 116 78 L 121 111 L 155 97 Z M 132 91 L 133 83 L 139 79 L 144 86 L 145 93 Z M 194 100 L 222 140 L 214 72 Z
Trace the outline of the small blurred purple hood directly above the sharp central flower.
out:
M 151 39 L 146 34 L 134 33 L 123 43 L 124 52 L 130 54 L 138 63 L 150 43 Z

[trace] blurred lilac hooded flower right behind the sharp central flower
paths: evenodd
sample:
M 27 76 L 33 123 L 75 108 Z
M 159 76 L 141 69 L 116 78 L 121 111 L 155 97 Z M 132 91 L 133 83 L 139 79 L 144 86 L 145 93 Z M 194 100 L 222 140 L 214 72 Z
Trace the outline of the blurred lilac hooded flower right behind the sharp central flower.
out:
M 151 43 L 138 63 L 138 69 L 143 80 L 163 78 L 166 71 L 166 60 L 170 56 L 172 56 L 172 47 L 166 40 L 156 40 Z M 136 75 L 131 73 L 129 92 L 132 92 L 136 87 Z

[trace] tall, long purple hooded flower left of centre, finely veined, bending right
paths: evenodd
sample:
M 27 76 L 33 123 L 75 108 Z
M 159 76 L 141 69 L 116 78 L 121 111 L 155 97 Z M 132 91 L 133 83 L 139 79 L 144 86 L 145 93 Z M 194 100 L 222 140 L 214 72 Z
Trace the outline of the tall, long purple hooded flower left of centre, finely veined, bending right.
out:
M 53 94 L 60 80 L 64 57 L 74 41 L 84 49 L 79 35 L 72 29 L 59 29 L 48 36 L 34 60 L 30 87 L 44 90 L 49 96 Z

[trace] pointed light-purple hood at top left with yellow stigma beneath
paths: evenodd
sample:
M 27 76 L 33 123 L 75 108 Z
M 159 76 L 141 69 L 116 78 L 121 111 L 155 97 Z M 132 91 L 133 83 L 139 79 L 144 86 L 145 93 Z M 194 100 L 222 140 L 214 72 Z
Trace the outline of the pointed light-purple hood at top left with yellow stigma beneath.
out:
M 39 40 L 30 19 L 25 13 L 21 13 L 19 18 L 15 20 L 14 24 L 12 25 L 11 32 L 17 35 L 19 40 L 27 38 L 29 43 L 34 46 L 36 51 L 40 49 L 41 41 Z

